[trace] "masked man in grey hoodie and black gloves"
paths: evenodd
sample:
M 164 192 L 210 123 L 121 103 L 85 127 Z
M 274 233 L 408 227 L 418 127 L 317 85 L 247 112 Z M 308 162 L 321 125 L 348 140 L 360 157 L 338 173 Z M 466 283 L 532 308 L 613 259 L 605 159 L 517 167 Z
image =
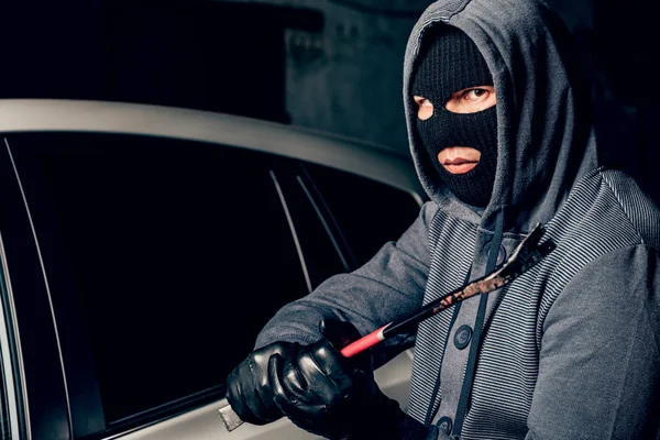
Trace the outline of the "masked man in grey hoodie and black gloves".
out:
M 241 419 L 331 439 L 660 438 L 660 211 L 598 162 L 571 41 L 542 0 L 427 8 L 403 92 L 429 200 L 396 242 L 266 323 L 227 381 Z M 554 250 L 506 287 L 341 354 L 493 273 L 539 224 Z M 413 344 L 404 413 L 372 367 Z

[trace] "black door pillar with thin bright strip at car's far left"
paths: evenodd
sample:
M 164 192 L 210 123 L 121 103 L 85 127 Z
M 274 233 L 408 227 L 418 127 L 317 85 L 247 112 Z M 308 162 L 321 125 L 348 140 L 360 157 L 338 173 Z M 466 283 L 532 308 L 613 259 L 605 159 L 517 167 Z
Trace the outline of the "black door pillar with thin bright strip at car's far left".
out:
M 3 265 L 11 280 L 14 311 L 13 339 L 22 400 L 23 438 L 66 436 L 70 439 L 68 399 L 59 358 L 59 345 L 52 319 L 50 295 L 45 285 L 43 266 L 30 221 L 28 207 L 11 157 L 7 136 L 0 147 L 0 206 L 12 216 L 0 218 Z M 21 293 L 16 295 L 16 293 Z M 31 334 L 31 338 L 21 338 Z M 20 354 L 20 361 L 18 359 Z M 44 386 L 47 384 L 47 386 Z M 41 408 L 35 411 L 34 408 Z

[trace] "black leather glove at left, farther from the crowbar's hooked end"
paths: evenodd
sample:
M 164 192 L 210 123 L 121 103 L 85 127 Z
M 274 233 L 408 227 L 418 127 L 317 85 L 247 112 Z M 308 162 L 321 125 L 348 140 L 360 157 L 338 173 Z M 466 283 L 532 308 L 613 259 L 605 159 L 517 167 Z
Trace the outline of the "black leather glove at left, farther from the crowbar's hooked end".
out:
M 234 413 L 252 425 L 266 425 L 284 415 L 273 402 L 268 380 L 268 361 L 274 354 L 288 359 L 301 345 L 294 342 L 275 342 L 250 353 L 227 378 L 227 400 Z

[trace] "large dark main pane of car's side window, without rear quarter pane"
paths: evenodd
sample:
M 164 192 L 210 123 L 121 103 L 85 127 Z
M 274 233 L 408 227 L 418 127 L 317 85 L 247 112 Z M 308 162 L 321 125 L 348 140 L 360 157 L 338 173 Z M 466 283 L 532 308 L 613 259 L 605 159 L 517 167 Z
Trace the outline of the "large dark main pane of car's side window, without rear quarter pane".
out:
M 119 134 L 10 145 L 56 314 L 81 305 L 107 426 L 219 391 L 275 310 L 308 292 L 275 157 Z

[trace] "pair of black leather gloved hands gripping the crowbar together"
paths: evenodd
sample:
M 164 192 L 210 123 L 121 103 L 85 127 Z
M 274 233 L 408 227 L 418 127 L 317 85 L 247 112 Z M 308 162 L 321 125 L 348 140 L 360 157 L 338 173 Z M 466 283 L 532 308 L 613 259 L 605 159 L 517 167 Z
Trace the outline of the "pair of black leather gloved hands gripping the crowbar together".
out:
M 360 338 L 349 322 L 322 321 L 322 338 L 309 345 L 275 342 L 255 350 L 227 380 L 227 399 L 253 425 L 287 416 L 298 427 L 329 439 L 436 439 L 376 385 L 369 351 L 344 358 L 340 350 Z

